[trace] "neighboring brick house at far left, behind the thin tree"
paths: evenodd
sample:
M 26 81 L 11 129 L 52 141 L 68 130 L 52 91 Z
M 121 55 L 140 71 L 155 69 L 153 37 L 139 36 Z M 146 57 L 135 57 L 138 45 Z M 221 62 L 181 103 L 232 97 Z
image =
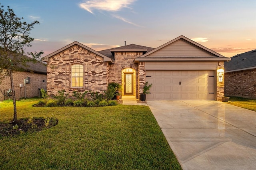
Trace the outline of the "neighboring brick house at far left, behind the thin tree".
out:
M 39 89 L 46 90 L 46 64 L 31 61 L 26 63 L 26 65 L 27 67 L 24 68 L 24 71 L 13 73 L 15 96 L 17 100 L 25 97 L 25 88 L 26 98 L 39 96 Z M 24 79 L 29 81 L 26 83 L 26 87 Z M 6 93 L 11 88 L 10 77 L 5 77 L 0 84 L 0 101 L 12 99 L 12 96 L 8 96 Z M 10 95 L 11 94 L 12 93 L 10 93 Z

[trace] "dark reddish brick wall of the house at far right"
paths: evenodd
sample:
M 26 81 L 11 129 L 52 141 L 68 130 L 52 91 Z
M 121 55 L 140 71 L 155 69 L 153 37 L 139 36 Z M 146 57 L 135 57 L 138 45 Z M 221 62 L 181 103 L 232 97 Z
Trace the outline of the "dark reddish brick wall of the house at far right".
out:
M 256 99 L 256 69 L 225 73 L 225 96 Z

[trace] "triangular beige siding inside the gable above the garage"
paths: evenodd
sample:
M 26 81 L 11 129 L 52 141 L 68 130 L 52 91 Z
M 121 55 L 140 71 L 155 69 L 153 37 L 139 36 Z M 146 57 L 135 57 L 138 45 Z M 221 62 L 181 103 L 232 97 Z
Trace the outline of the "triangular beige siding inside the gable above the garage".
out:
M 158 51 L 148 55 L 148 57 L 210 57 L 214 56 L 194 45 L 178 40 Z

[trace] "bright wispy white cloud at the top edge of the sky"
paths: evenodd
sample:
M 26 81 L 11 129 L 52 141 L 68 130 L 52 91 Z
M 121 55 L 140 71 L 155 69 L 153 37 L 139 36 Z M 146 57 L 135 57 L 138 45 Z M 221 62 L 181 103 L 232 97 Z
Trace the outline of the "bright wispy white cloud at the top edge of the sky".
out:
M 89 0 L 79 4 L 80 8 L 92 13 L 92 10 L 120 11 L 122 8 L 130 8 L 134 0 Z

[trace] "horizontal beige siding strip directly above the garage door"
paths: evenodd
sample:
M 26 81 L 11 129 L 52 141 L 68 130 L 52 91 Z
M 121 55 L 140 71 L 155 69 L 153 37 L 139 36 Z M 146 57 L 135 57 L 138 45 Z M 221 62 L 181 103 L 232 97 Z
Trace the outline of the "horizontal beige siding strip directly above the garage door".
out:
M 218 61 L 146 61 L 146 70 L 216 70 Z

